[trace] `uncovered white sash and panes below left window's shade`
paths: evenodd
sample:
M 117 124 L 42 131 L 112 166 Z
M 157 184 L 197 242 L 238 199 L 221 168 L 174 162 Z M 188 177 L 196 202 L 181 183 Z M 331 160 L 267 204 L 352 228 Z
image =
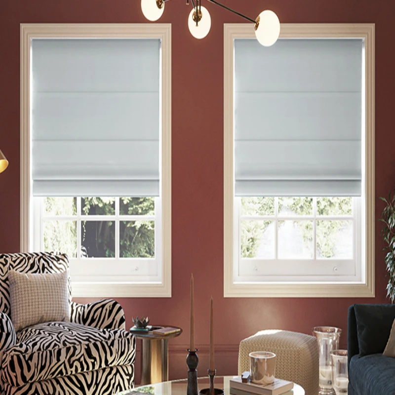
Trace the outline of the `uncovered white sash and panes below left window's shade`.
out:
M 34 249 L 66 252 L 76 281 L 98 266 L 100 281 L 159 281 L 158 197 L 36 197 L 34 204 Z

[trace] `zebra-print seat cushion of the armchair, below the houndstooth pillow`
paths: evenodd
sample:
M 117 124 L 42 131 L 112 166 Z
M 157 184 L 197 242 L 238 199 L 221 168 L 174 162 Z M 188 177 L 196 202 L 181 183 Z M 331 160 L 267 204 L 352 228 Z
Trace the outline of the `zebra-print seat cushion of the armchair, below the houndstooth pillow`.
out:
M 134 361 L 135 338 L 123 329 L 46 322 L 17 334 L 3 354 L 3 381 L 13 387 Z

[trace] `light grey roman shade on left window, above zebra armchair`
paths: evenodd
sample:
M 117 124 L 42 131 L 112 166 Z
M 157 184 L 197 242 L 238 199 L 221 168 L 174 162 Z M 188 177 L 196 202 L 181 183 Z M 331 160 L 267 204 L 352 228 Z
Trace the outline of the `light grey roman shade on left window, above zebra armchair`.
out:
M 35 196 L 158 196 L 160 40 L 32 41 Z

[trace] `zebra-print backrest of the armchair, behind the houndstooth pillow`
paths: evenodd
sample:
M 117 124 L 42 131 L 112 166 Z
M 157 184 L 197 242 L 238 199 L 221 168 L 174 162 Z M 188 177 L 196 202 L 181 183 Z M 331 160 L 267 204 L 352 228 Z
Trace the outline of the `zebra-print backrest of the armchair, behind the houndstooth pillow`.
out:
M 0 254 L 0 312 L 11 316 L 9 306 L 8 271 L 19 273 L 62 273 L 69 269 L 66 254 L 52 252 L 19 252 Z M 69 302 L 72 300 L 69 278 Z

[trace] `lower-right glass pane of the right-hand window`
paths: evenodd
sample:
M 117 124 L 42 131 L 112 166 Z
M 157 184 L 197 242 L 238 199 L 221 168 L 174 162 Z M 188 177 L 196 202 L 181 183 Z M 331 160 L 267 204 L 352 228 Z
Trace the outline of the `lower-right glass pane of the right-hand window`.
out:
M 353 221 L 317 221 L 317 258 L 353 258 Z

